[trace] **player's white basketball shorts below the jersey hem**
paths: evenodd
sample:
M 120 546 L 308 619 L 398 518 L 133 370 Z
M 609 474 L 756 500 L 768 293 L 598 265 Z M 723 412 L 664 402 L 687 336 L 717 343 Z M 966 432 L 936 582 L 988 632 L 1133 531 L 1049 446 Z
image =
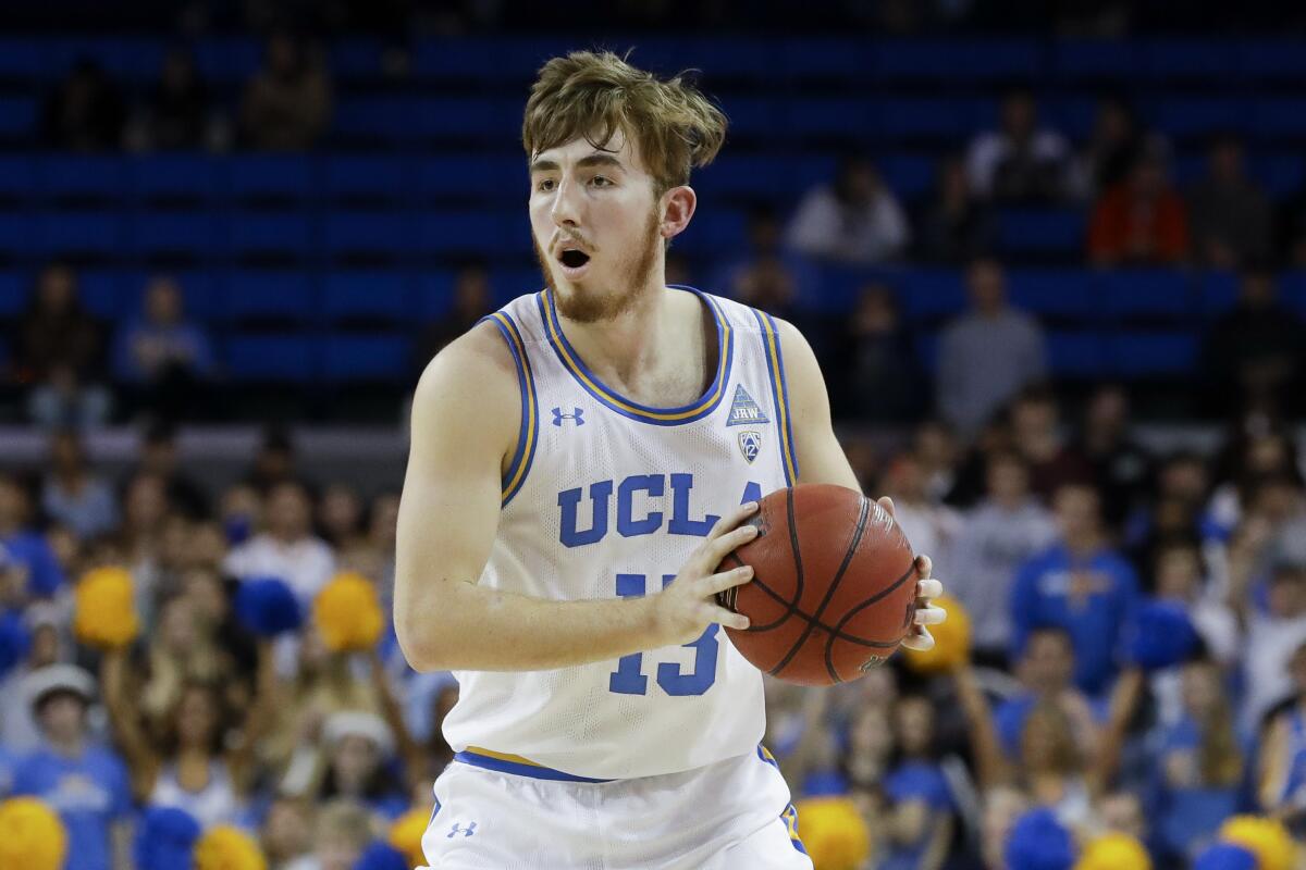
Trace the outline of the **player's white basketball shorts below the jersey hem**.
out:
M 485 750 L 435 781 L 432 870 L 812 870 L 763 747 L 680 773 L 594 781 Z

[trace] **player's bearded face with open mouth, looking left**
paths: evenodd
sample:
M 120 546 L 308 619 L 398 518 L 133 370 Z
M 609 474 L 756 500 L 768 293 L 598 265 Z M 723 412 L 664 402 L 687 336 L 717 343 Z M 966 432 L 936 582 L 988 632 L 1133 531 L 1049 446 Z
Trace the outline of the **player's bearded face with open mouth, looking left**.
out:
M 661 207 L 635 142 L 577 137 L 535 155 L 530 228 L 564 317 L 609 320 L 662 283 Z

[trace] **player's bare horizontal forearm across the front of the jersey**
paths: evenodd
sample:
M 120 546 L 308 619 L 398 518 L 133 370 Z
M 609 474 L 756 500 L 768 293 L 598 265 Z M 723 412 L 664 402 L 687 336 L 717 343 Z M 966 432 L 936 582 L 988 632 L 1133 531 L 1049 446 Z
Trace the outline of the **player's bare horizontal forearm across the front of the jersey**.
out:
M 551 670 L 663 646 L 656 599 L 549 601 L 443 580 L 396 600 L 400 647 L 417 670 Z

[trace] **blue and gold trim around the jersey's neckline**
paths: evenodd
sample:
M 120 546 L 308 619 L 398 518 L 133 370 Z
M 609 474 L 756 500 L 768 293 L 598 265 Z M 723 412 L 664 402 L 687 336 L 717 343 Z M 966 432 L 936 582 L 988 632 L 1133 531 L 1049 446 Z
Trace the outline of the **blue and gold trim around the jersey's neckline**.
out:
M 704 293 L 693 287 L 682 284 L 669 286 L 675 290 L 686 290 L 695 293 L 712 310 L 712 318 L 717 323 L 716 378 L 712 381 L 712 386 L 708 387 L 703 397 L 700 397 L 696 402 L 679 408 L 654 408 L 646 404 L 640 404 L 607 387 L 607 385 L 605 385 L 593 372 L 589 370 L 585 361 L 580 357 L 580 353 L 577 353 L 567 340 L 562 323 L 558 322 L 558 307 L 554 304 L 552 290 L 541 291 L 535 296 L 535 301 L 539 305 L 539 317 L 543 320 L 545 330 L 549 333 L 549 343 L 552 346 L 554 352 L 558 355 L 558 360 L 563 364 L 563 368 L 565 368 L 571 376 L 576 378 L 576 382 L 580 383 L 581 387 L 599 403 L 616 413 L 620 413 L 623 417 L 660 427 L 674 427 L 684 423 L 693 423 L 695 420 L 701 420 L 716 411 L 717 406 L 721 404 L 722 397 L 725 395 L 726 383 L 730 381 L 730 367 L 734 361 L 734 330 L 730 329 L 730 323 L 726 321 L 726 317 L 717 305 L 717 301 L 708 293 Z

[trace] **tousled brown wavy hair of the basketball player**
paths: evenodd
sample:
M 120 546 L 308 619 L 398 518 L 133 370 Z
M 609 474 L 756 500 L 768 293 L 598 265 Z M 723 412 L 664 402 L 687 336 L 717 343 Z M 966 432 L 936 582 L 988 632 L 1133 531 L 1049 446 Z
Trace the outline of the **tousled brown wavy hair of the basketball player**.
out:
M 601 149 L 618 129 L 639 145 L 660 197 L 712 162 L 726 116 L 690 82 L 688 70 L 660 80 L 610 51 L 573 51 L 541 67 L 521 124 L 529 159 L 577 136 Z

